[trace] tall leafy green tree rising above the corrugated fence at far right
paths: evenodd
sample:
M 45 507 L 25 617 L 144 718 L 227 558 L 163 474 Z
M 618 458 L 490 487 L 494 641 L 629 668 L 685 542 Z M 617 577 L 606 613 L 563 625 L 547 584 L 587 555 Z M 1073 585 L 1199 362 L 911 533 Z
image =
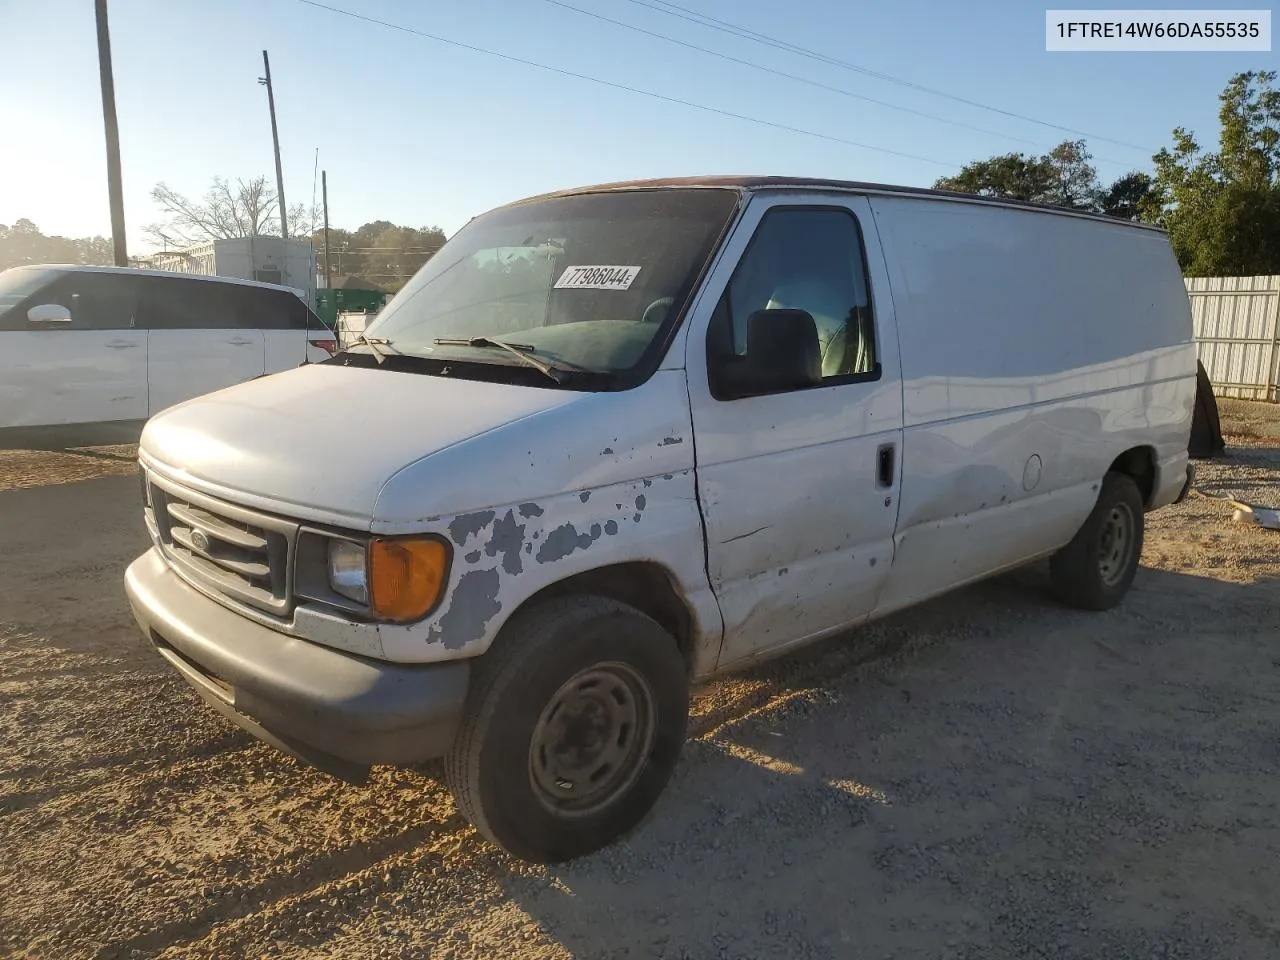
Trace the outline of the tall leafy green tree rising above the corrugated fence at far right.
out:
M 1219 96 L 1219 148 L 1185 128 L 1155 156 L 1142 214 L 1169 229 L 1188 276 L 1280 273 L 1280 91 L 1275 70 L 1231 77 Z

